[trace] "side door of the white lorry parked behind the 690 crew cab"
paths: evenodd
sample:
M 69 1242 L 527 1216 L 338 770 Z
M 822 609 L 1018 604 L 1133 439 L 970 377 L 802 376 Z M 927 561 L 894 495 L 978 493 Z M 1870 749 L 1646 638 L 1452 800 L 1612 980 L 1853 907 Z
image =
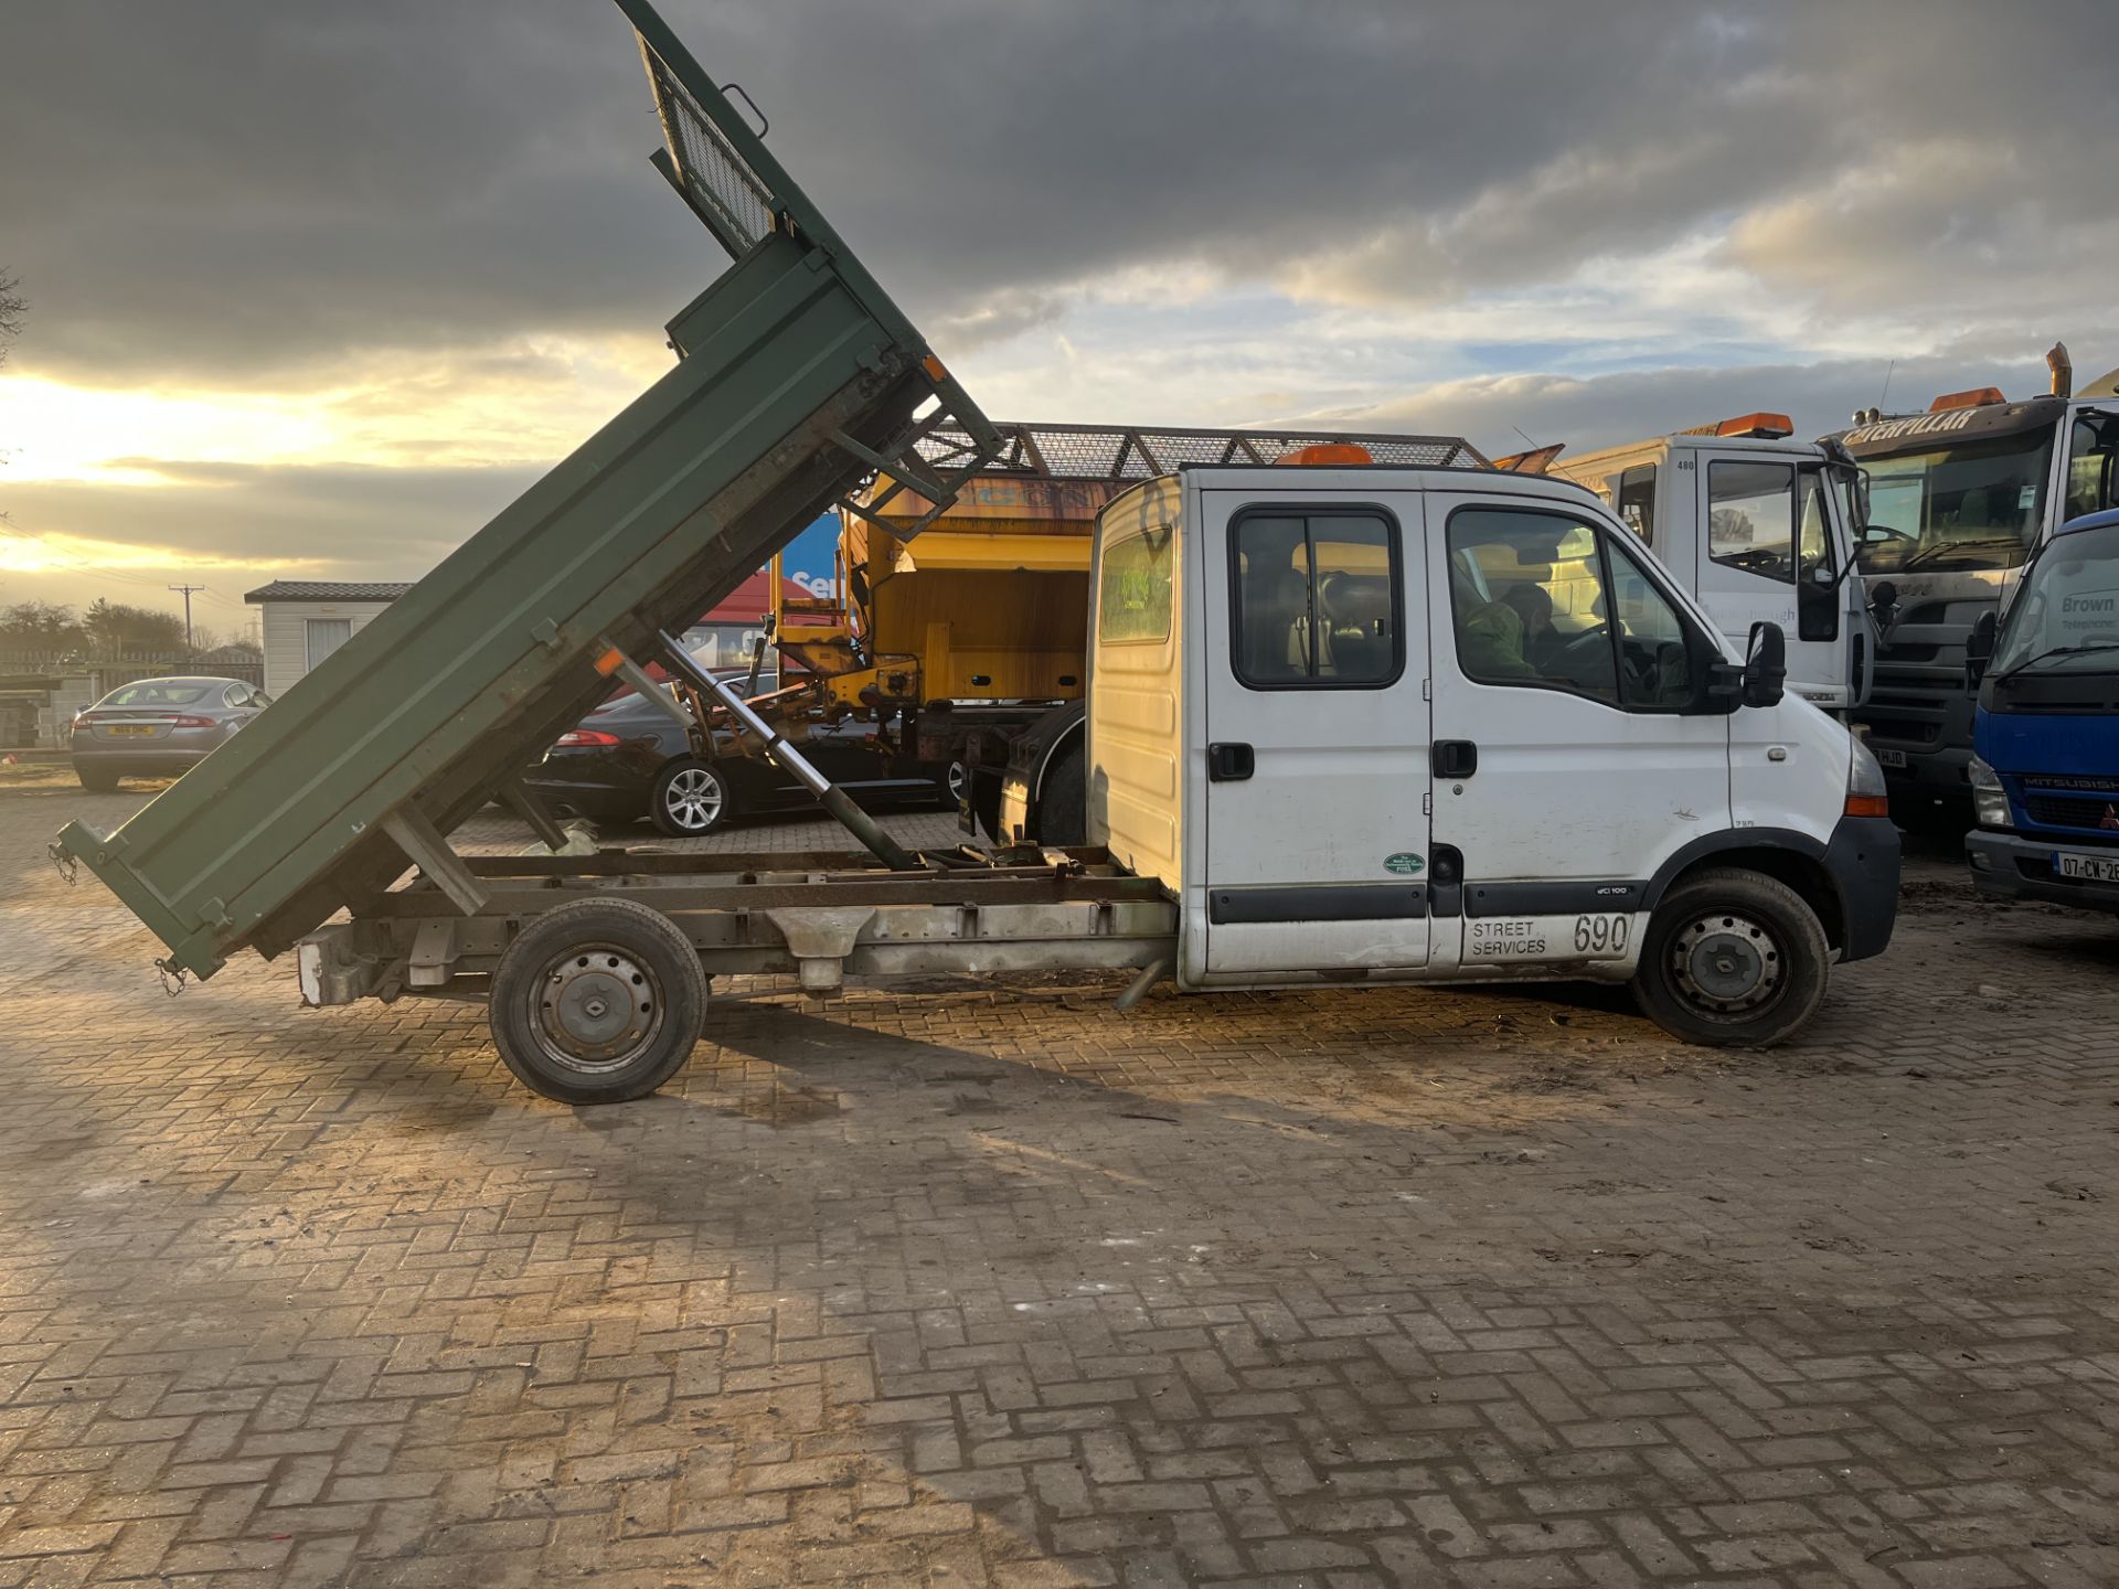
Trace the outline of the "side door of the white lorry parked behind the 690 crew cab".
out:
M 1844 532 L 1816 462 L 1702 451 L 1695 485 L 1699 604 L 1738 650 L 1750 625 L 1788 638 L 1788 689 L 1827 710 L 1854 706 Z

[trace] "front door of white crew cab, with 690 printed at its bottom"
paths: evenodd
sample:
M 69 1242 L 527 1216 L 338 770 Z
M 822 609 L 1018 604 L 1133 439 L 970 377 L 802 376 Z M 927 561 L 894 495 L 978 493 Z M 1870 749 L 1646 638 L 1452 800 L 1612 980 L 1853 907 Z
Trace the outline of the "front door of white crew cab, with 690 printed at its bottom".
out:
M 1702 623 L 1579 502 L 1426 508 L 1432 845 L 1462 873 L 1437 920 L 1462 911 L 1466 968 L 1625 960 L 1655 871 L 1729 826 L 1729 718 L 1682 714 Z

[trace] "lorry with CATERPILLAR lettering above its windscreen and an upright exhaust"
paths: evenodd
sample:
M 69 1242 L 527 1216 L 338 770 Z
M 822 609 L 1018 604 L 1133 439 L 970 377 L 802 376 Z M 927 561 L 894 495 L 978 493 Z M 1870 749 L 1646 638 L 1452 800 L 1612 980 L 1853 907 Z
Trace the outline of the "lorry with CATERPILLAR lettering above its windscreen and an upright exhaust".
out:
M 1860 466 L 1856 559 L 1880 644 L 1856 722 L 1909 822 L 1971 822 L 1964 663 L 1979 619 L 2000 614 L 2062 523 L 2119 506 L 2119 369 L 2075 390 L 2066 347 L 2045 358 L 2045 396 L 1945 392 L 1822 439 Z

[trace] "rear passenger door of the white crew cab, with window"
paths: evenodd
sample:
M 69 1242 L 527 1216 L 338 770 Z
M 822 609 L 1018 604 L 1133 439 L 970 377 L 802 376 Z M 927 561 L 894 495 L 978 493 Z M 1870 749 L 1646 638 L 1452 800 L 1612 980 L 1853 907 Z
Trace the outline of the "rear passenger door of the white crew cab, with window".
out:
M 1318 500 L 1208 489 L 1199 500 L 1199 975 L 1257 981 L 1424 966 L 1420 494 Z

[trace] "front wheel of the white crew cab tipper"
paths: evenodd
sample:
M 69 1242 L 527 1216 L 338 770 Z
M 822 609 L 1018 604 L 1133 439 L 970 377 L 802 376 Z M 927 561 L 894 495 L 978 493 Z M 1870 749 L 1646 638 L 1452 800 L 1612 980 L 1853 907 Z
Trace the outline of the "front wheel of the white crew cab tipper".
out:
M 1793 888 L 1710 869 L 1649 917 L 1634 1000 L 1685 1042 L 1769 1049 L 1816 1013 L 1829 956 L 1816 911 Z

